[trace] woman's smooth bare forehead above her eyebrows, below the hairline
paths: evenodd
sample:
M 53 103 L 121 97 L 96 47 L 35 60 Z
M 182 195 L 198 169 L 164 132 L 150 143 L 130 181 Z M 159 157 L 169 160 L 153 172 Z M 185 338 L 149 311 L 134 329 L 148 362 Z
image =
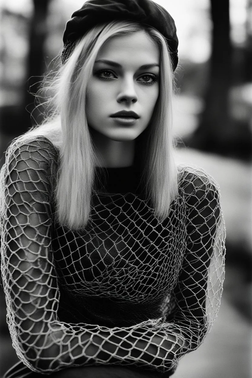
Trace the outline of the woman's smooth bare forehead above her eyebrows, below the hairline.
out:
M 121 64 L 159 63 L 159 48 L 145 31 L 138 31 L 107 40 L 100 48 L 97 59 Z

